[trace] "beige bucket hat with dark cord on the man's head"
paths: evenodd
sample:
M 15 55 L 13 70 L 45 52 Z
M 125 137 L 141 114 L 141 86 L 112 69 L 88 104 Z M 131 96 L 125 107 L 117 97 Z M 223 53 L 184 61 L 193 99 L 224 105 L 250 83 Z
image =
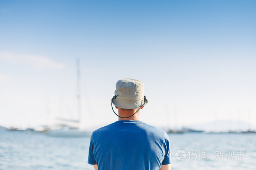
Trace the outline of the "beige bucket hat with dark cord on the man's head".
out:
M 112 101 L 115 106 L 126 109 L 139 108 L 146 105 L 148 101 L 144 96 L 144 83 L 136 79 L 118 80 Z

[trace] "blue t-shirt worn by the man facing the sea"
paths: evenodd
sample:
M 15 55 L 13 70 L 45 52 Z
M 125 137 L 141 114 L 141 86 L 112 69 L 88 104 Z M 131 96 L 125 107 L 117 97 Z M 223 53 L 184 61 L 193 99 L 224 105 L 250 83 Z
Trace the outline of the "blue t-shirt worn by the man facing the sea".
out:
M 138 120 L 119 120 L 91 135 L 88 163 L 99 170 L 158 170 L 171 163 L 166 132 Z

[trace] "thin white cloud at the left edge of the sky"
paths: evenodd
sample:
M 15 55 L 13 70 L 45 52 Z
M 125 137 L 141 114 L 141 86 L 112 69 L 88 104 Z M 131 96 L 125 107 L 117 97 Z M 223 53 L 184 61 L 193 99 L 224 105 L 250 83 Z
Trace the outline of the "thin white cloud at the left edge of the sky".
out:
M 29 65 L 30 67 L 37 68 L 39 70 L 62 70 L 65 68 L 64 64 L 55 62 L 44 56 L 19 55 L 10 52 L 1 52 L 0 59 L 15 64 Z

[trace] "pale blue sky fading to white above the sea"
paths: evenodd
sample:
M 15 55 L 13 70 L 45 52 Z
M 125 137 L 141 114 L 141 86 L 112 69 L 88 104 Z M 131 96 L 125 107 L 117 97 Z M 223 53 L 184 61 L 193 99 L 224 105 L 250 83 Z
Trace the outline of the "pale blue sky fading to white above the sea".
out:
M 253 0 L 1 0 L 0 125 L 44 124 L 46 107 L 52 123 L 67 110 L 75 115 L 76 58 L 88 126 L 116 120 L 109 101 L 121 78 L 145 83 L 147 123 L 161 125 L 166 105 L 170 114 L 177 107 L 179 126 L 250 122 L 255 7 Z

